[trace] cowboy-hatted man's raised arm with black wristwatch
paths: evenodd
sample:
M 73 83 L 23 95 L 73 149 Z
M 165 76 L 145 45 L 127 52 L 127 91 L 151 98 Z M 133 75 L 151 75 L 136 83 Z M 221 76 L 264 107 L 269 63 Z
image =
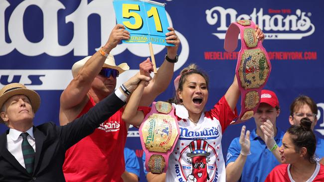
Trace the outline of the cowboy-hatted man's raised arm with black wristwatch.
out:
M 167 36 L 165 38 L 166 43 L 174 44 L 173 47 L 166 46 L 167 57 L 171 60 L 174 60 L 177 55 L 180 40 L 176 36 L 174 28 L 168 27 L 167 29 L 169 30 L 169 32 L 165 34 Z M 140 105 L 151 105 L 154 99 L 166 90 L 173 76 L 173 68 L 174 63 L 170 63 L 166 59 L 164 59 L 162 65 L 158 70 L 158 73 L 155 74 L 149 86 L 144 89 Z

